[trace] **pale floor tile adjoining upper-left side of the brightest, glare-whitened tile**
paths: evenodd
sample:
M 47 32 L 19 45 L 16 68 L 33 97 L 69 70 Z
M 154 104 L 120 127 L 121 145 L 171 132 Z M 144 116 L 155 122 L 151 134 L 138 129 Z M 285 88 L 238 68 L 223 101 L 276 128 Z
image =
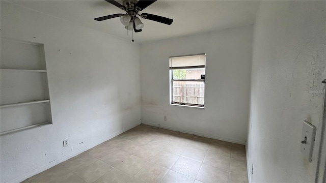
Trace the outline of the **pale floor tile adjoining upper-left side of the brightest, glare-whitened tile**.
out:
M 151 160 L 151 162 L 160 165 L 165 168 L 171 168 L 172 165 L 177 161 L 179 158 L 178 155 L 174 155 L 167 151 L 160 151 L 156 156 Z

